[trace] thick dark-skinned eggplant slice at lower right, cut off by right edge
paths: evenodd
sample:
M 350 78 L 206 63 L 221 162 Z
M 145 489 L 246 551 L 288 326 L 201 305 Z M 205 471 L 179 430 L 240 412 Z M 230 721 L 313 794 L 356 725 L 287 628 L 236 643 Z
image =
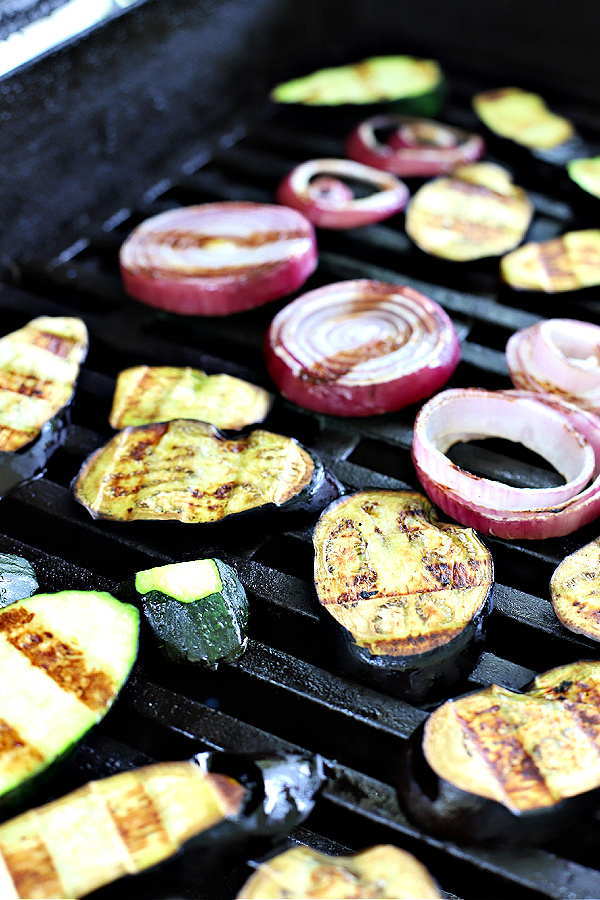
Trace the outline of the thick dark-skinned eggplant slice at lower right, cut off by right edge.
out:
M 600 662 L 449 700 L 401 754 L 399 801 L 438 837 L 542 843 L 600 804 Z

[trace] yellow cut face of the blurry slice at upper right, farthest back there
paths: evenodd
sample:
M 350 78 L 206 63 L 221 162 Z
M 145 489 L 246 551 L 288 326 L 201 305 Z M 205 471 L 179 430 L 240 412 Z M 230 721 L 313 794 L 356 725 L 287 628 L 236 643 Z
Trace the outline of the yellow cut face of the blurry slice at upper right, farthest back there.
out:
M 474 96 L 473 109 L 490 131 L 530 149 L 559 147 L 574 135 L 567 119 L 551 112 L 538 94 L 521 88 L 482 91 Z

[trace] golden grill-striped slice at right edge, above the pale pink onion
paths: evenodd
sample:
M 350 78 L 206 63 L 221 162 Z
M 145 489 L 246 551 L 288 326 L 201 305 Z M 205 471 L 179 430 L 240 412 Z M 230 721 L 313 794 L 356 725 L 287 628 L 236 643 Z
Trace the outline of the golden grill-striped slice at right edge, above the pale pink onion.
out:
M 502 258 L 500 272 L 517 290 L 548 294 L 600 284 L 600 230 L 568 231 L 549 241 L 523 244 Z

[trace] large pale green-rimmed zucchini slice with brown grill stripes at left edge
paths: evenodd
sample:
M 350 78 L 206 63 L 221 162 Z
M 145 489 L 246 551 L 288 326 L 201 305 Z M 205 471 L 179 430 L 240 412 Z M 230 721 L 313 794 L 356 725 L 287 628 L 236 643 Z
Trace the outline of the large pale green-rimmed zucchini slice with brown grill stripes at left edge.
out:
M 22 802 L 102 719 L 138 632 L 135 607 L 103 591 L 36 594 L 0 610 L 2 805 Z

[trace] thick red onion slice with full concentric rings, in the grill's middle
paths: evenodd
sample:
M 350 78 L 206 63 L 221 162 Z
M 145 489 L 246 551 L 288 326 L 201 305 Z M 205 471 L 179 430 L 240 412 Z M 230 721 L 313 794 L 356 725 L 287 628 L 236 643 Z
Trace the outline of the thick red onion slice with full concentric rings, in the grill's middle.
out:
M 372 416 L 430 397 L 460 358 L 444 310 L 412 288 L 342 281 L 310 291 L 273 319 L 269 374 L 299 406 Z

